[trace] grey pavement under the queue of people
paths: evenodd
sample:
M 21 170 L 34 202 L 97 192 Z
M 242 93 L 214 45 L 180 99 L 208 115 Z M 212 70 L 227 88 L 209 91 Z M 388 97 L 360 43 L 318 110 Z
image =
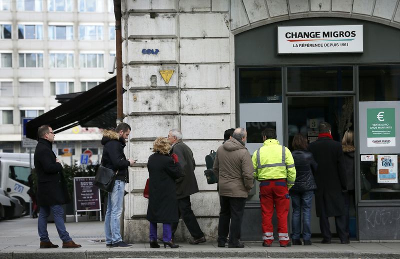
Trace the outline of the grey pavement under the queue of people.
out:
M 79 217 L 84 220 L 84 217 Z M 72 239 L 82 245 L 81 248 L 62 249 L 61 240 L 53 223 L 48 223 L 50 240 L 59 248 L 39 249 L 37 219 L 15 218 L 0 221 L 0 259 L 1 258 L 189 258 L 189 257 L 258 257 L 258 258 L 400 258 L 400 243 L 397 242 L 358 242 L 340 244 L 332 240 L 331 244 L 318 243 L 320 238 L 312 239 L 312 245 L 293 245 L 279 247 L 274 242 L 272 247 L 262 247 L 261 242 L 245 242 L 244 248 L 221 248 L 216 242 L 197 245 L 178 243 L 179 248 L 150 248 L 148 243 L 135 243 L 132 248 L 108 248 L 103 240 L 103 222 L 71 222 L 67 219 L 66 230 Z

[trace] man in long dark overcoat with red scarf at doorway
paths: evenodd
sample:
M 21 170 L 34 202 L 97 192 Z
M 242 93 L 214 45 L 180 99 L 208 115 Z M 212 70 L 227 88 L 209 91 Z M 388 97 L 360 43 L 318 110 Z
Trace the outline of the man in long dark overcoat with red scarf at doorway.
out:
M 344 158 L 341 144 L 332 139 L 330 124 L 319 124 L 318 139 L 308 145 L 318 168 L 314 175 L 316 183 L 315 210 L 319 217 L 321 243 L 330 243 L 328 217 L 334 217 L 340 243 L 348 243 L 344 208 L 344 194 L 347 191 Z

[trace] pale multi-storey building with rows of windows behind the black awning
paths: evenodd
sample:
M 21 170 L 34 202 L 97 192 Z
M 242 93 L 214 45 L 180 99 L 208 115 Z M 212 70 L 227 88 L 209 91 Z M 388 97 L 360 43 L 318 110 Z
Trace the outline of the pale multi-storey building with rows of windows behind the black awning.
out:
M 109 0 L 0 0 L 0 152 L 21 147 L 21 117 L 59 104 L 55 95 L 87 91 L 114 76 L 115 19 Z M 100 152 L 97 128 L 74 127 L 56 136 L 61 156 Z M 64 158 L 69 161 L 70 158 Z

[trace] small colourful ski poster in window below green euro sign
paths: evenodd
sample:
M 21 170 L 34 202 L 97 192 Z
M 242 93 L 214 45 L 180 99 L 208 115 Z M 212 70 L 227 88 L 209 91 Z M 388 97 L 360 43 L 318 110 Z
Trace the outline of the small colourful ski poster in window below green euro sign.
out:
M 397 155 L 378 155 L 378 183 L 397 183 Z

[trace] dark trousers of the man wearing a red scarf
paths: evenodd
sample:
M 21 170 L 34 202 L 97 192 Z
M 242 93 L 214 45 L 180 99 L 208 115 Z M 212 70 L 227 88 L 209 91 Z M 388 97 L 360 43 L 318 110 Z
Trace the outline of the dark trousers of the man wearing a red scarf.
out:
M 335 216 L 334 222 L 336 224 L 336 231 L 339 235 L 340 241 L 347 241 L 348 233 L 346 232 L 346 216 Z M 321 215 L 319 217 L 319 228 L 321 229 L 323 239 L 330 240 L 332 238 L 332 233 L 330 232 L 329 226 L 329 218 L 326 216 L 323 204 L 321 206 Z

